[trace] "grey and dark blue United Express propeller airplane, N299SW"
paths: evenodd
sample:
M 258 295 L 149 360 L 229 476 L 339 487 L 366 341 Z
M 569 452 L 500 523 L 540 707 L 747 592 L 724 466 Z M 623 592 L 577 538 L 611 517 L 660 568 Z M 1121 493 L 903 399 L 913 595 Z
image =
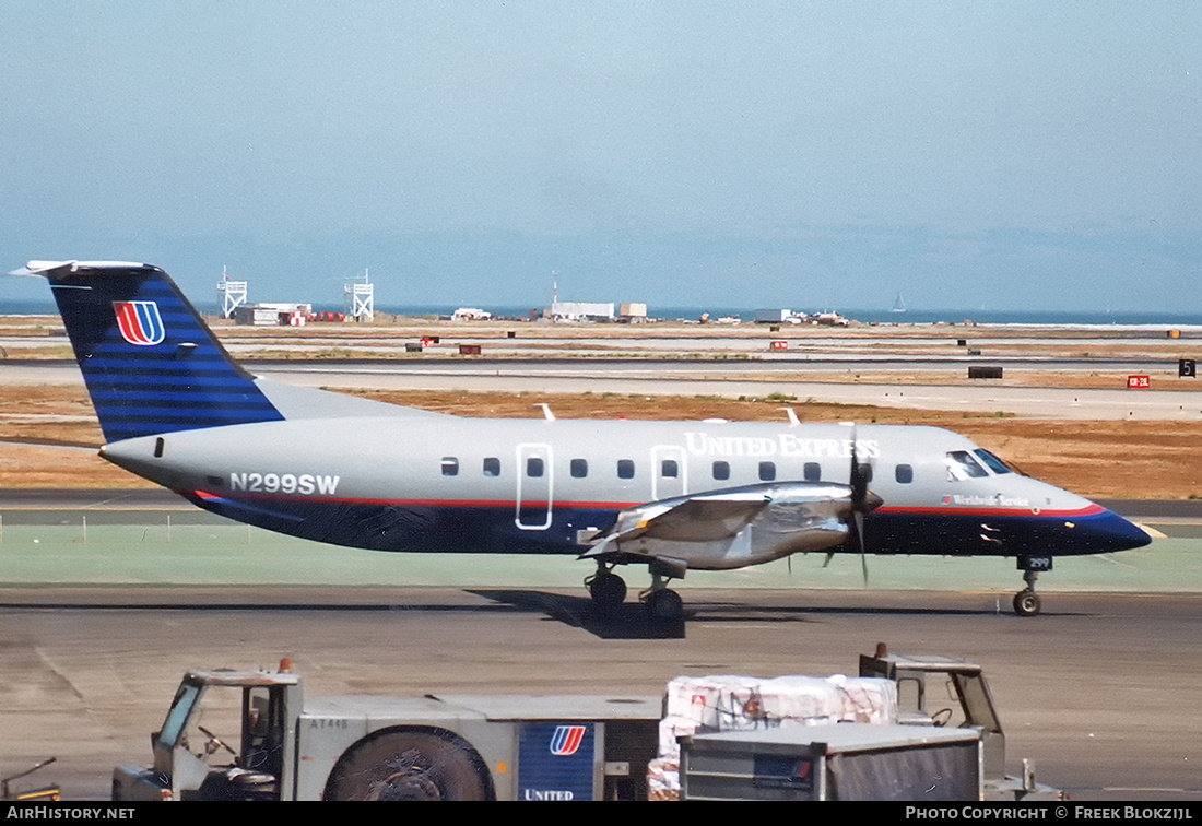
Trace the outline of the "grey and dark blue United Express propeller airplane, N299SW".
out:
M 1138 527 L 1014 473 L 948 430 L 909 426 L 464 418 L 276 385 L 242 369 L 165 272 L 31 261 L 49 280 L 109 462 L 221 516 L 376 551 L 571 553 L 666 587 L 798 552 L 1018 560 L 1035 614 L 1057 555 L 1147 545 Z M 865 567 L 867 576 L 867 567 Z

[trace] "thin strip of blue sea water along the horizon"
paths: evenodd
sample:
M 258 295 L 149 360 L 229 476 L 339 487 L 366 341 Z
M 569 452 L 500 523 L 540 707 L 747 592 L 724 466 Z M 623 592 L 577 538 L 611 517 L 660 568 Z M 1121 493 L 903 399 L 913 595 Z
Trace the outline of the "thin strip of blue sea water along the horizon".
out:
M 383 305 L 377 304 L 377 313 L 392 315 L 451 315 L 464 304 L 421 304 L 421 305 Z M 530 307 L 490 307 L 476 304 L 494 316 L 510 319 L 528 319 Z M 215 307 L 200 307 L 201 313 L 215 313 Z M 820 313 L 828 308 L 801 309 L 795 311 Z M 314 305 L 314 310 L 343 311 L 344 307 Z M 728 307 L 655 307 L 649 304 L 648 314 L 655 319 L 674 321 L 677 319 L 697 320 L 703 313 L 708 313 L 710 320 L 724 316 L 734 316 L 744 322 L 755 320 L 755 308 L 728 308 Z M 972 321 L 978 325 L 1055 325 L 1055 326 L 1135 326 L 1135 327 L 1195 327 L 1202 326 L 1202 311 L 1176 311 L 1176 313 L 1127 313 L 1105 310 L 988 310 L 988 309 L 951 309 L 951 310 L 922 310 L 909 309 L 905 313 L 893 313 L 888 308 L 882 309 L 838 309 L 838 313 L 852 321 L 879 325 L 960 325 Z M 0 315 L 58 315 L 58 309 L 52 301 L 4 301 L 0 299 Z

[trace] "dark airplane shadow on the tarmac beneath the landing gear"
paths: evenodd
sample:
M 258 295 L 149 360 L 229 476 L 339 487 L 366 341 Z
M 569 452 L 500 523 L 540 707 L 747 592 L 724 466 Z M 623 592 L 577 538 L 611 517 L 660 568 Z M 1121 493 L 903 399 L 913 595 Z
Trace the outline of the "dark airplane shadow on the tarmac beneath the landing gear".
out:
M 575 596 L 530 589 L 468 589 L 468 593 L 523 611 L 545 614 L 548 619 L 579 628 L 602 640 L 679 640 L 685 637 L 689 620 L 707 623 L 804 623 L 815 614 L 887 614 L 887 616 L 980 616 L 993 611 L 944 607 L 902 606 L 797 606 L 748 605 L 732 601 L 696 601 L 685 604 L 684 617 L 665 622 L 650 618 L 643 605 L 630 601 L 617 610 L 601 611 L 588 596 Z M 1005 614 L 1013 618 L 1008 612 Z

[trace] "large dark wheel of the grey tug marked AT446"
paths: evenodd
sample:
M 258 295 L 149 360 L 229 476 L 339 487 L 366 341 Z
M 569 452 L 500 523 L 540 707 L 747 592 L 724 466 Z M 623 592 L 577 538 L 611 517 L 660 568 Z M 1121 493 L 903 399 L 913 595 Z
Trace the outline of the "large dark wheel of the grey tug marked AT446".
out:
M 328 801 L 488 801 L 493 783 L 480 754 L 442 729 L 369 735 L 338 759 Z

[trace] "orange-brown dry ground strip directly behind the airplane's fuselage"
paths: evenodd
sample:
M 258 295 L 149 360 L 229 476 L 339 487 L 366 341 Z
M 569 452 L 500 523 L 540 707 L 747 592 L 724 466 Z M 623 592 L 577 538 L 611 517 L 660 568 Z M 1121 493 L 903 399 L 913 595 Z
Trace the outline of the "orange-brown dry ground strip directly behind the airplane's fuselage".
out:
M 934 424 L 974 439 L 1024 473 L 1091 498 L 1202 498 L 1202 423 L 1060 422 L 998 415 L 904 411 L 767 397 L 363 392 L 362 396 L 460 416 L 535 417 L 540 402 L 559 418 L 784 421 L 787 404 L 805 422 Z M 10 387 L 0 397 L 0 486 L 154 487 L 96 454 L 103 442 L 83 387 Z

